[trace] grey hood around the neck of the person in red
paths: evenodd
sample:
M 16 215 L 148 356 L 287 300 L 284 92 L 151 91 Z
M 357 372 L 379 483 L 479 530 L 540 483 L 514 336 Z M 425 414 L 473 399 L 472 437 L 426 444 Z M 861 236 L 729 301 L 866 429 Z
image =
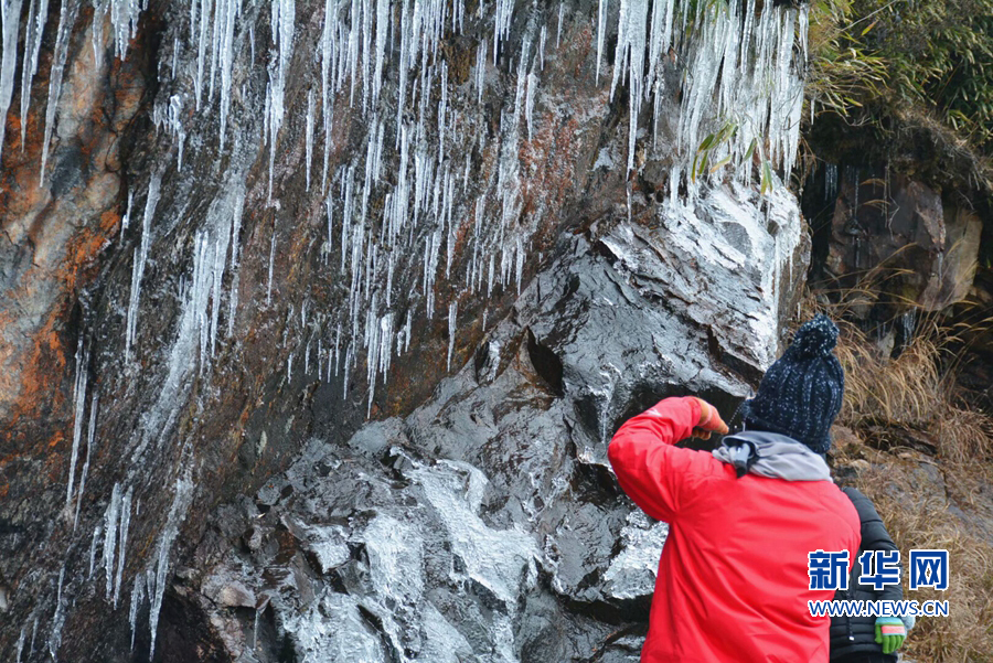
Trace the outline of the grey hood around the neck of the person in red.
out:
M 807 445 L 778 432 L 743 430 L 724 438 L 714 458 L 746 473 L 787 481 L 831 481 L 831 470 L 822 456 Z

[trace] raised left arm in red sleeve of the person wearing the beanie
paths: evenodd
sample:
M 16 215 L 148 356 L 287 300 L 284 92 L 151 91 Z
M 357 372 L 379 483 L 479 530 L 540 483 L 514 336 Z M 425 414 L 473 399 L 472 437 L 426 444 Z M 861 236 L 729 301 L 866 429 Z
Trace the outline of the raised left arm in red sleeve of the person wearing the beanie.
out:
M 709 453 L 673 445 L 711 432 L 727 432 L 717 408 L 693 396 L 665 398 L 626 421 L 607 456 L 628 496 L 653 518 L 672 521 L 687 486 L 720 464 Z

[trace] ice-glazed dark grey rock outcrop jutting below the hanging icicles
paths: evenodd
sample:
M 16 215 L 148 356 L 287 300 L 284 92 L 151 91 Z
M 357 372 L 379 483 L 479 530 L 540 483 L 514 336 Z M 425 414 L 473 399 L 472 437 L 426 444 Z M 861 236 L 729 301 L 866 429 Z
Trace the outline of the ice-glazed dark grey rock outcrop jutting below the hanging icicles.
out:
M 665 239 L 621 222 L 606 242 L 623 260 L 567 239 L 425 405 L 343 446 L 309 442 L 259 491 L 270 510 L 241 521 L 250 537 L 280 543 L 233 545 L 214 574 L 270 600 L 266 642 L 238 641 L 232 655 L 270 660 L 264 652 L 286 638 L 298 660 L 314 661 L 637 660 L 668 527 L 621 496 L 606 443 L 632 398 L 648 406 L 707 388 L 730 407 L 749 388 L 718 367 L 706 331 L 665 303 Z M 709 272 L 712 297 L 730 278 L 723 267 Z M 718 301 L 743 324 L 778 314 L 775 300 L 709 299 L 697 316 Z M 770 356 L 751 353 L 754 370 Z M 281 485 L 293 491 L 277 499 Z M 210 619 L 238 632 L 241 617 L 221 606 Z

